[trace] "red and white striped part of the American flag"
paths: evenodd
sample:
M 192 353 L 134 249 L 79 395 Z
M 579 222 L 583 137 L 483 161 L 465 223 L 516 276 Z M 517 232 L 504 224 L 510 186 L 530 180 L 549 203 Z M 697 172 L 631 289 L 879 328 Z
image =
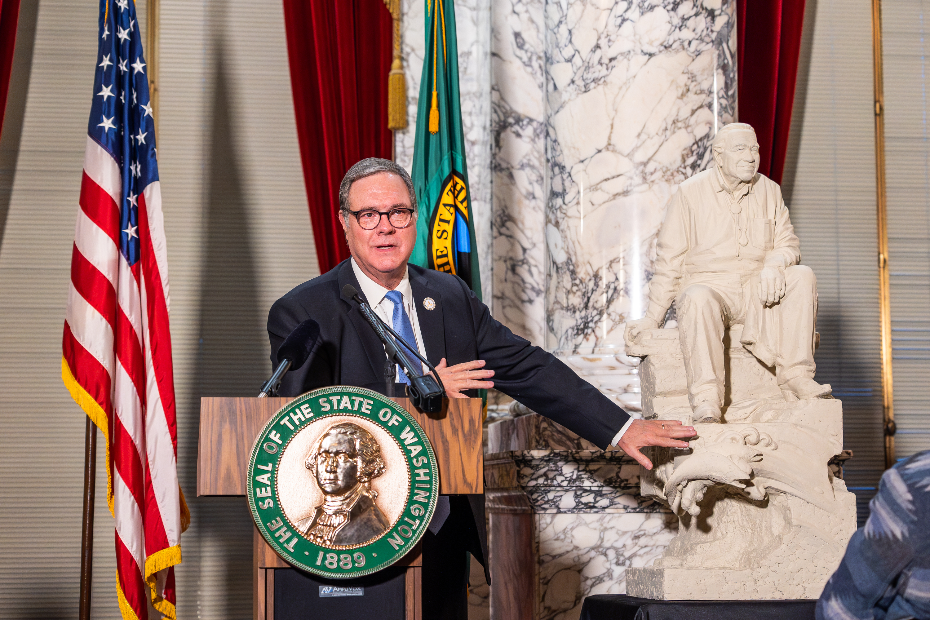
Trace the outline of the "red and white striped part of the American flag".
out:
M 124 618 L 175 617 L 181 497 L 165 226 L 158 181 L 139 196 L 140 260 L 119 251 L 120 170 L 88 138 L 74 231 L 62 378 L 107 442 Z

